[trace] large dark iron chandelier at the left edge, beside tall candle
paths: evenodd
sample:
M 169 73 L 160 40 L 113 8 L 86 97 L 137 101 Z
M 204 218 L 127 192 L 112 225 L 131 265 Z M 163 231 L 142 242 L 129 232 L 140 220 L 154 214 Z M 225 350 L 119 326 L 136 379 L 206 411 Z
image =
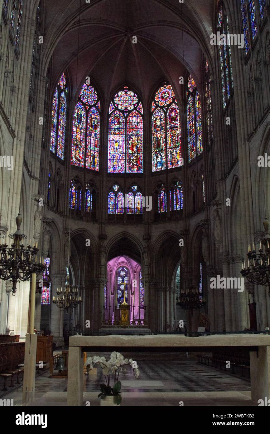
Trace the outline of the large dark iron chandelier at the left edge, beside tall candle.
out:
M 45 266 L 36 263 L 36 255 L 39 249 L 22 242 L 27 237 L 20 231 L 22 224 L 20 214 L 16 217 L 17 230 L 8 237 L 13 240 L 10 247 L 8 244 L 0 244 L 0 279 L 12 281 L 12 295 L 16 294 L 16 285 L 19 281 L 30 280 L 33 273 L 43 273 Z

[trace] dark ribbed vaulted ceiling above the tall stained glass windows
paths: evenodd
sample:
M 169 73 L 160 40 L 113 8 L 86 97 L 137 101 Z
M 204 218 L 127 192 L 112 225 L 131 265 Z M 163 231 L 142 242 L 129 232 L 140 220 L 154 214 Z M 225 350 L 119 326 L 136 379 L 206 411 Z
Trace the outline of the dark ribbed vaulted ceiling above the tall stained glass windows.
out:
M 73 96 L 86 76 L 105 104 L 126 83 L 145 104 L 165 78 L 181 103 L 186 71 L 200 88 L 203 55 L 211 63 L 215 0 L 81 0 L 81 11 L 80 0 L 44 3 L 44 65 L 54 82 L 68 70 Z

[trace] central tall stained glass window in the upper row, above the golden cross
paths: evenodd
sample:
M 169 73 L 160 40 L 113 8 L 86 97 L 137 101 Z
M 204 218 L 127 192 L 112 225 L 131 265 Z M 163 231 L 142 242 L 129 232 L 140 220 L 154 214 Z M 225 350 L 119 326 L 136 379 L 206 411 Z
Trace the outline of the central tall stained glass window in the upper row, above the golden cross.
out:
M 127 86 L 117 92 L 109 114 L 108 172 L 143 173 L 143 107 L 136 93 Z

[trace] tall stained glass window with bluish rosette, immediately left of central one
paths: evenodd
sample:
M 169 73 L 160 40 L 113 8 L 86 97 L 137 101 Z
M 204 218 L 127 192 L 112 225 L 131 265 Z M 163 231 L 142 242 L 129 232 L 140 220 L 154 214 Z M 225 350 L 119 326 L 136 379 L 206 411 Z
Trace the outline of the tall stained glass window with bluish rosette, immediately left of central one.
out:
M 73 115 L 71 164 L 98 171 L 99 139 L 100 101 L 94 87 L 84 83 Z

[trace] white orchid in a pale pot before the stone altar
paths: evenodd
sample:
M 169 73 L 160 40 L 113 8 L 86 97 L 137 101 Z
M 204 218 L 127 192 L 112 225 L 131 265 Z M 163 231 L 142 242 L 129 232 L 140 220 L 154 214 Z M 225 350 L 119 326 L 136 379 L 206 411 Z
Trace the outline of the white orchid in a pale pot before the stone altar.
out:
M 88 357 L 85 362 L 87 372 L 94 368 L 95 365 L 100 365 L 102 373 L 105 377 L 105 383 L 100 385 L 101 393 L 98 398 L 101 398 L 101 405 L 117 406 L 121 404 L 121 381 L 119 374 L 123 370 L 124 365 L 130 365 L 133 368 L 135 378 L 140 375 L 137 362 L 132 358 L 127 359 L 116 351 L 111 353 L 109 360 L 105 357 Z

